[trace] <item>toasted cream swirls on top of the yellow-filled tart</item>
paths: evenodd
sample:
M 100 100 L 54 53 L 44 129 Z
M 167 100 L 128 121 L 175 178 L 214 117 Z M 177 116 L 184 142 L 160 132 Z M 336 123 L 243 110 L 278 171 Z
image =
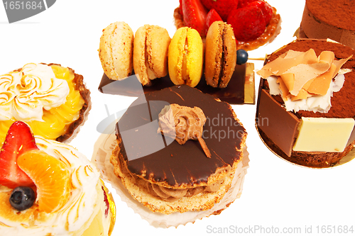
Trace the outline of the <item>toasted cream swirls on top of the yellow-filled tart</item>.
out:
M 25 64 L 0 76 L 0 120 L 43 121 L 43 109 L 65 103 L 70 89 L 46 64 Z

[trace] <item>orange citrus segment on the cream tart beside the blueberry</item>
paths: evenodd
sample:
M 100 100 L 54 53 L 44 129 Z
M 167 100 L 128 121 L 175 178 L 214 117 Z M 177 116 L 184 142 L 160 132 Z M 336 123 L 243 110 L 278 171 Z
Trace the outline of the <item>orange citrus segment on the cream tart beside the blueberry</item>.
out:
M 41 150 L 31 150 L 21 154 L 17 164 L 37 187 L 39 210 L 51 213 L 67 203 L 71 182 L 70 172 L 63 162 Z

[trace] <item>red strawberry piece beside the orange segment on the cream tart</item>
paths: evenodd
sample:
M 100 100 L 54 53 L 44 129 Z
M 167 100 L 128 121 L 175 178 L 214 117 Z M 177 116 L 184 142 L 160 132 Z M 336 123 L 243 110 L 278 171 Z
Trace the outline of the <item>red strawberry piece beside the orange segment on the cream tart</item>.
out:
M 22 121 L 14 122 L 0 150 L 0 184 L 14 189 L 33 186 L 33 181 L 17 165 L 17 157 L 27 150 L 38 149 L 31 128 Z

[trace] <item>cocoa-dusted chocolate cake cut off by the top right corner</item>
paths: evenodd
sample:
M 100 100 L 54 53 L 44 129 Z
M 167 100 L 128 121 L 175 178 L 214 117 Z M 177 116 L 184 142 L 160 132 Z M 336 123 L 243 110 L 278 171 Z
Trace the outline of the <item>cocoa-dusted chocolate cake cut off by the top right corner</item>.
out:
M 330 38 L 354 48 L 354 21 L 355 2 L 352 0 L 306 0 L 301 31 L 306 38 Z

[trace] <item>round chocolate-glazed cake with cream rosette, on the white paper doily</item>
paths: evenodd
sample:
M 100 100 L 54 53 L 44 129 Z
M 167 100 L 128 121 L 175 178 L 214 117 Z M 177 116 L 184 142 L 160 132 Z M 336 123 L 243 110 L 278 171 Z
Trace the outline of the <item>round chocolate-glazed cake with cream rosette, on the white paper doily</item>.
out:
M 129 106 L 116 124 L 111 164 L 131 196 L 153 212 L 208 210 L 233 188 L 246 135 L 229 103 L 172 86 Z

